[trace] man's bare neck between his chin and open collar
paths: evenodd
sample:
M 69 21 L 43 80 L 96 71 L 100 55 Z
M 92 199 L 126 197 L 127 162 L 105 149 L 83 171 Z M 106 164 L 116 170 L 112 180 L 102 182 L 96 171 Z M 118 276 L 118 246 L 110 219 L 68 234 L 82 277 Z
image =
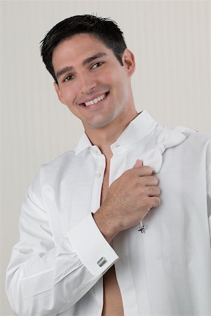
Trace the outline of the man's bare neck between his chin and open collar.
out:
M 96 145 L 105 157 L 111 157 L 111 144 L 115 143 L 121 133 L 130 124 L 130 121 L 137 117 L 136 110 L 131 112 L 128 117 L 123 117 L 117 121 L 112 121 L 107 126 L 103 126 L 100 129 L 86 129 L 86 134 L 93 145 Z

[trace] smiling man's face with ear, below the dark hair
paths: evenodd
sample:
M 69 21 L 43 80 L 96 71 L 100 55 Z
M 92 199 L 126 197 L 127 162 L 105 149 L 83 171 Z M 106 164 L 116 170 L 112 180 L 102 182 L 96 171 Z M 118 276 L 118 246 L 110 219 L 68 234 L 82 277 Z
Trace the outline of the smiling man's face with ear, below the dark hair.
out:
M 86 131 L 118 124 L 134 112 L 130 77 L 135 62 L 128 49 L 122 66 L 102 41 L 77 34 L 55 48 L 52 62 L 57 95 Z

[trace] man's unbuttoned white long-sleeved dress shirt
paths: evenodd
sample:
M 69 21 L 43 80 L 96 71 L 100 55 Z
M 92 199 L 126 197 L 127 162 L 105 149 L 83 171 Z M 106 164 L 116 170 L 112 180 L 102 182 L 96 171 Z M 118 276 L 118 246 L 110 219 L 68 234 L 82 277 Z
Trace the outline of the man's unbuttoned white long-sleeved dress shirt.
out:
M 18 316 L 100 316 L 115 263 L 125 316 L 211 315 L 211 138 L 166 129 L 144 111 L 111 145 L 109 184 L 137 159 L 157 173 L 161 205 L 109 245 L 100 207 L 105 157 L 84 133 L 29 187 L 6 289 Z

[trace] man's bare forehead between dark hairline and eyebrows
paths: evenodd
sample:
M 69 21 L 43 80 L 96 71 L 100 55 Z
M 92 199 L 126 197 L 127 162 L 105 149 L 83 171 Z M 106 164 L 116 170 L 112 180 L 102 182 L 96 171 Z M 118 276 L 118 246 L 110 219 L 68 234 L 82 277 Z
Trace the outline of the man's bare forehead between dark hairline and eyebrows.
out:
M 107 48 L 95 35 L 76 34 L 69 39 L 64 39 L 64 41 L 55 47 L 52 55 L 53 67 L 57 69 L 57 67 L 67 66 L 64 65 L 67 62 L 82 62 L 91 55 L 99 52 L 114 55 L 113 51 Z

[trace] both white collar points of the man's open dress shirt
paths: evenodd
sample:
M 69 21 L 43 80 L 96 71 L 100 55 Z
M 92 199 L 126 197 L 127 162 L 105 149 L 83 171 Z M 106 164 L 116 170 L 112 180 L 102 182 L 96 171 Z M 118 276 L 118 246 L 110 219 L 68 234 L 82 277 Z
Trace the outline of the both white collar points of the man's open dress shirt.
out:
M 130 122 L 130 124 L 128 124 L 116 142 L 111 145 L 112 152 L 115 153 L 121 151 L 125 147 L 128 147 L 128 145 L 141 140 L 147 136 L 156 127 L 156 125 L 156 121 L 154 121 L 149 113 L 146 110 L 142 111 Z M 79 144 L 77 145 L 75 152 L 76 154 L 79 154 L 79 152 L 82 152 L 88 147 L 93 147 L 93 144 L 84 132 L 79 140 Z

